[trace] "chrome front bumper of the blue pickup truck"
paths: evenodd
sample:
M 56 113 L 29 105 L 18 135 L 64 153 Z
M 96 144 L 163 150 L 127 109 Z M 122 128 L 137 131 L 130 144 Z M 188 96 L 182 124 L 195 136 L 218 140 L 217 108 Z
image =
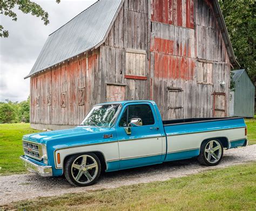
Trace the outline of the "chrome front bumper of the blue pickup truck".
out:
M 39 164 L 33 163 L 33 161 L 31 161 L 31 159 L 26 156 L 20 156 L 19 158 L 22 159 L 23 164 L 26 167 L 26 170 L 32 173 L 37 173 L 42 177 L 52 177 L 51 166 L 45 166 L 45 165 L 39 165 Z

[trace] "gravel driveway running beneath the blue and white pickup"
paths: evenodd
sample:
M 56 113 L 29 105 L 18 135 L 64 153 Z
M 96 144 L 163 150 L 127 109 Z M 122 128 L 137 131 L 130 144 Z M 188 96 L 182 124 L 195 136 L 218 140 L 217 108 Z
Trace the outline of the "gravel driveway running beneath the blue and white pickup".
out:
M 172 161 L 159 165 L 104 173 L 97 184 L 89 187 L 73 187 L 63 177 L 43 178 L 36 174 L 2 176 L 0 177 L 0 206 L 38 196 L 55 196 L 151 181 L 163 181 L 253 160 L 256 160 L 256 145 L 224 151 L 223 160 L 218 166 L 201 166 L 196 159 Z

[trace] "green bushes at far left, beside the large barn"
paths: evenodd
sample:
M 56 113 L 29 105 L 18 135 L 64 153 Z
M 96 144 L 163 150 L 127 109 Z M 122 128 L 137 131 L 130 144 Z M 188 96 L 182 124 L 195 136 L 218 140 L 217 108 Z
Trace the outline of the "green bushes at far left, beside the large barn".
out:
M 5 101 L 6 103 L 0 102 L 0 123 L 29 123 L 30 97 L 22 102 L 12 102 L 8 99 Z

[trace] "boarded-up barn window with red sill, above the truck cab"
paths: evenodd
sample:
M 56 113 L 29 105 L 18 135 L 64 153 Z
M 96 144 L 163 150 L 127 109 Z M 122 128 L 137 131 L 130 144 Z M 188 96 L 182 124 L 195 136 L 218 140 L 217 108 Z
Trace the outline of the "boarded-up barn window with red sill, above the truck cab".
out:
M 146 51 L 126 49 L 126 79 L 147 80 Z

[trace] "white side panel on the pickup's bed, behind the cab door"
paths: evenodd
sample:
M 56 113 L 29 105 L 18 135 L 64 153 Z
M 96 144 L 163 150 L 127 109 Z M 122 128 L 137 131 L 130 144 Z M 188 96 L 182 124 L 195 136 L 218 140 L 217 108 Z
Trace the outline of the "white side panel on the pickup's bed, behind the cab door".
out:
M 215 137 L 226 137 L 228 141 L 246 139 L 244 128 L 172 135 L 167 136 L 167 153 L 200 148 L 203 140 Z

